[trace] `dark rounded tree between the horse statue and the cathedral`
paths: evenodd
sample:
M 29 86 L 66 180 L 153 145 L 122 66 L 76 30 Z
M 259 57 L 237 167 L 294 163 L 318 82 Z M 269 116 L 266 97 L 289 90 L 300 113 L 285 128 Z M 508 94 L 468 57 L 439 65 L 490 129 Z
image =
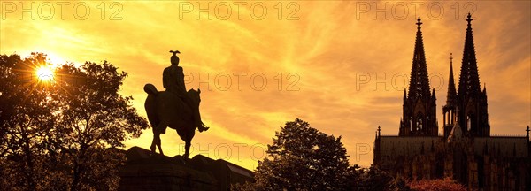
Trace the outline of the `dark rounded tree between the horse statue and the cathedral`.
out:
M 242 190 L 337 190 L 345 186 L 349 161 L 335 138 L 296 118 L 275 133 L 267 157 L 258 162 L 256 182 Z

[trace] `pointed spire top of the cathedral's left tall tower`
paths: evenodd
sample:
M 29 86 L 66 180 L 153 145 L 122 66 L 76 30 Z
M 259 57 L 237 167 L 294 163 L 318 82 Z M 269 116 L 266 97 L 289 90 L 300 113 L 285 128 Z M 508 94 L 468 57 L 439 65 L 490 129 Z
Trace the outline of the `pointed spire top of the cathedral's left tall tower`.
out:
M 419 17 L 419 19 L 417 19 L 417 37 L 415 40 L 415 50 L 413 52 L 412 74 L 408 92 L 408 97 L 413 102 L 419 98 L 427 99 L 430 95 L 424 43 L 422 42 L 420 25 L 422 25 L 422 23 L 420 22 Z

